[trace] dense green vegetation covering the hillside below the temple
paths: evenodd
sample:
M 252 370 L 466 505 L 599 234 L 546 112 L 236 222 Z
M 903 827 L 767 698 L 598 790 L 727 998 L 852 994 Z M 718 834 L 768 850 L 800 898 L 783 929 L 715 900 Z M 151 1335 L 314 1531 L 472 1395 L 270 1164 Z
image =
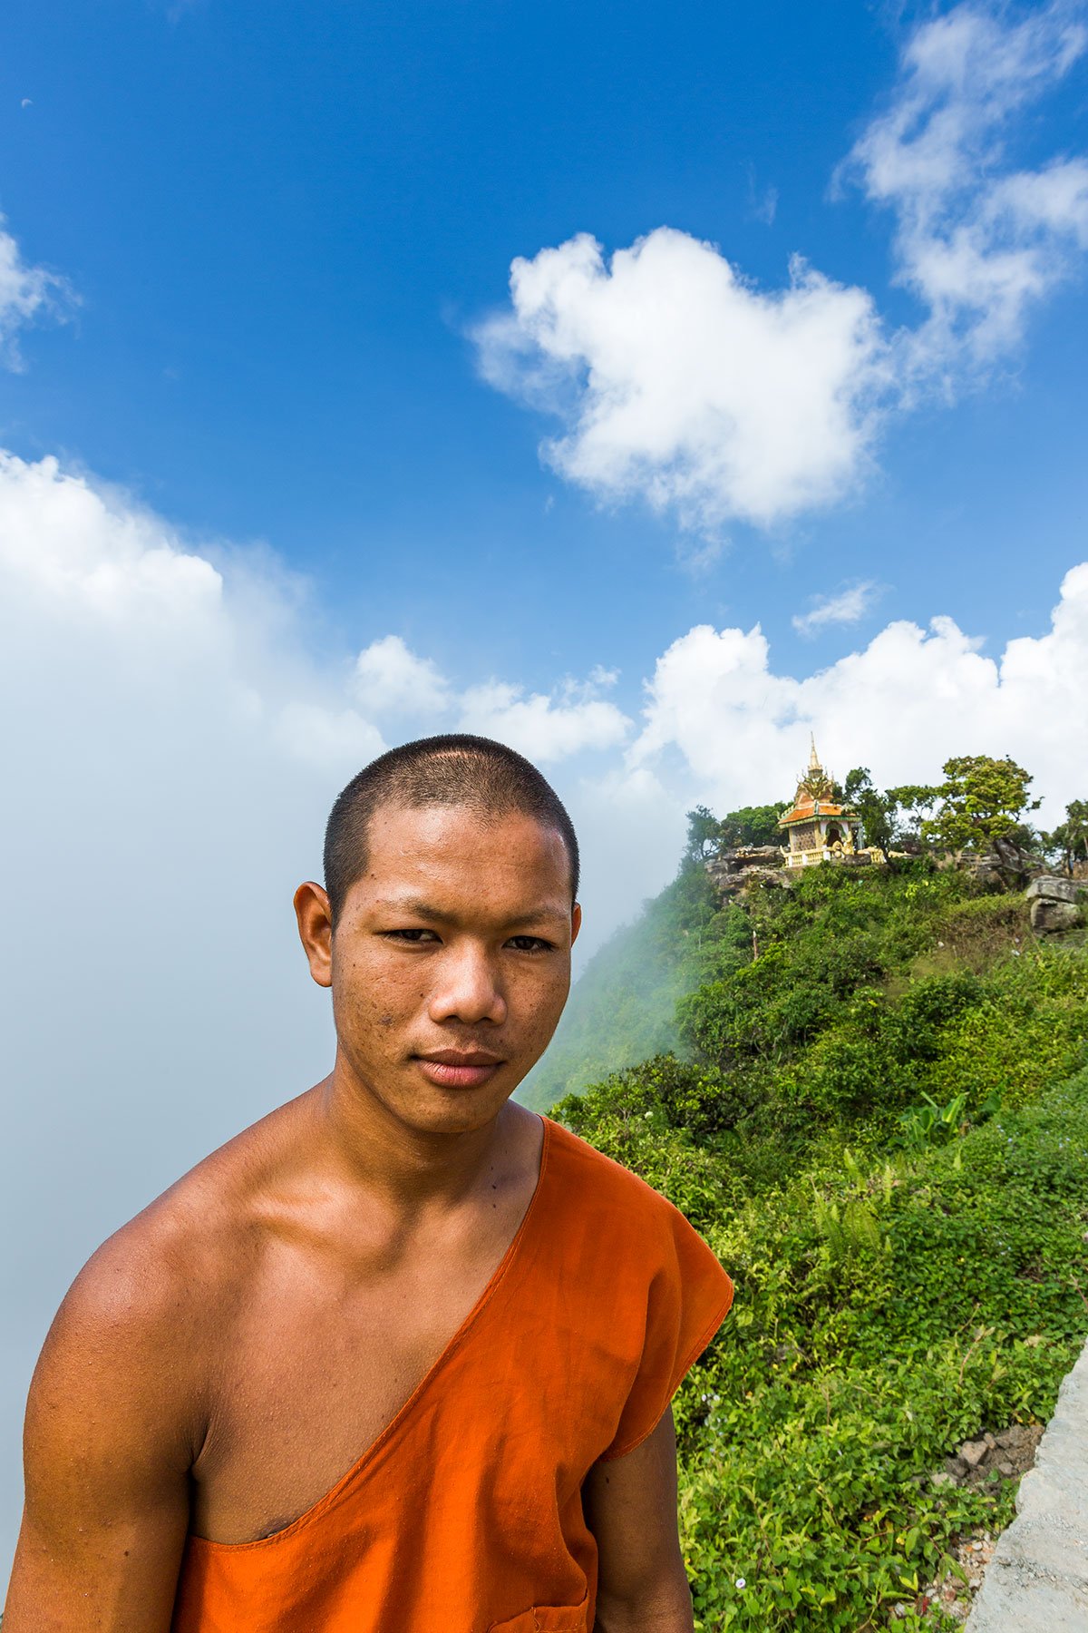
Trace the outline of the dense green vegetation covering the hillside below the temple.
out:
M 1008 1520 L 1013 1483 L 930 1476 L 967 1437 L 1046 1419 L 1088 1333 L 1088 957 L 927 857 L 812 869 L 724 911 L 701 872 L 688 857 L 641 932 L 687 931 L 685 1058 L 556 1109 L 736 1282 L 677 1398 L 697 1625 L 958 1625 L 925 1582 L 956 1535 Z

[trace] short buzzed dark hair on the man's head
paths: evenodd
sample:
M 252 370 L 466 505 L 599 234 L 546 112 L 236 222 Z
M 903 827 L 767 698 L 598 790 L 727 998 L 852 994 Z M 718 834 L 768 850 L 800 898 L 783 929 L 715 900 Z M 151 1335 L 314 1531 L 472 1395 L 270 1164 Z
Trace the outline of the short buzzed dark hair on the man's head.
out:
M 517 812 L 555 828 L 571 862 L 571 901 L 577 898 L 579 859 L 574 825 L 551 784 L 524 754 L 489 736 L 452 732 L 421 736 L 380 754 L 336 797 L 325 828 L 325 892 L 333 926 L 347 892 L 367 867 L 370 818 L 382 805 L 422 810 L 467 805 L 488 816 Z

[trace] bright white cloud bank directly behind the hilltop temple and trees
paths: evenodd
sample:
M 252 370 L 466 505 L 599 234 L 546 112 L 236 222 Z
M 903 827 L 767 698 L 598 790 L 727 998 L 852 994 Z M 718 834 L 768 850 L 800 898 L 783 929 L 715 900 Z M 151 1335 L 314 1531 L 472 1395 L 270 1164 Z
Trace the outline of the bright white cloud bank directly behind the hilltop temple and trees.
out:
M 840 776 L 933 781 L 951 754 L 1011 754 L 1036 776 L 1044 820 L 1083 795 L 1088 764 L 1088 562 L 1072 568 L 1044 635 L 1000 658 L 938 616 L 882 629 L 804 679 L 778 674 L 759 627 L 698 625 L 657 660 L 630 763 L 683 799 L 729 810 L 785 797 L 816 733 Z

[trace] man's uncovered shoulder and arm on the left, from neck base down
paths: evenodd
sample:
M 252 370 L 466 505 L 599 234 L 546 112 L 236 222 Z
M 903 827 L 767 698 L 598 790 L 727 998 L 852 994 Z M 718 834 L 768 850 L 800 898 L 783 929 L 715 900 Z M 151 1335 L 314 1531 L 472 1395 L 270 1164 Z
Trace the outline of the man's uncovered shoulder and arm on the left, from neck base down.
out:
M 163 1633 L 261 1174 L 290 1107 L 171 1186 L 86 1262 L 26 1411 L 13 1633 Z

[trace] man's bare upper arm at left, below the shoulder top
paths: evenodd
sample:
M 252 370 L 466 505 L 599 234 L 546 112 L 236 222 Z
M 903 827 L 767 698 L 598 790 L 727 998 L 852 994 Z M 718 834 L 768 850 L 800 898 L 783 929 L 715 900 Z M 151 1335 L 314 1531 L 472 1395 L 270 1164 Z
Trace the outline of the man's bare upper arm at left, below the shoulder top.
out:
M 168 1633 L 192 1462 L 186 1305 L 114 1243 L 65 1298 L 26 1411 L 3 1633 Z

